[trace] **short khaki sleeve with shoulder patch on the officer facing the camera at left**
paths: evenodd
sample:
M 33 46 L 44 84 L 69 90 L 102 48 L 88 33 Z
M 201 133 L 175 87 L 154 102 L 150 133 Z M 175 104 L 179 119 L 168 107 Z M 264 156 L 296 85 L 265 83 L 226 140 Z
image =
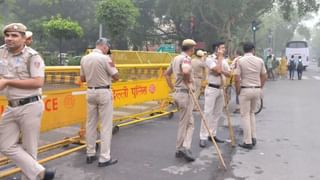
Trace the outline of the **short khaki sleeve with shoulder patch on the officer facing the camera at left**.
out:
M 31 77 L 44 77 L 45 64 L 40 55 L 31 56 L 29 63 Z

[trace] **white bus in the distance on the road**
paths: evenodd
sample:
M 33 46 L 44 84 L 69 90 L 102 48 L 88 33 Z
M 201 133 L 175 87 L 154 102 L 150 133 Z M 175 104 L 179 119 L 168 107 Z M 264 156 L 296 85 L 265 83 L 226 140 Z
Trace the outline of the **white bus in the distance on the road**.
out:
M 309 66 L 309 47 L 306 41 L 289 41 L 286 45 L 286 57 L 288 60 L 294 56 L 295 60 L 302 59 L 304 69 Z

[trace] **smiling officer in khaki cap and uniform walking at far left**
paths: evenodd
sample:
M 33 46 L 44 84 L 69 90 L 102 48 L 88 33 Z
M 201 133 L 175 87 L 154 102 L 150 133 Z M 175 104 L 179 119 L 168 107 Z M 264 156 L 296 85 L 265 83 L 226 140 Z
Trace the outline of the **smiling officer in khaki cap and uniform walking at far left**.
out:
M 0 90 L 5 92 L 8 107 L 0 121 L 0 152 L 22 169 L 22 179 L 49 180 L 55 173 L 37 162 L 45 65 L 35 50 L 25 46 L 26 29 L 21 23 L 9 24 L 3 29 Z M 22 147 L 17 144 L 20 132 Z

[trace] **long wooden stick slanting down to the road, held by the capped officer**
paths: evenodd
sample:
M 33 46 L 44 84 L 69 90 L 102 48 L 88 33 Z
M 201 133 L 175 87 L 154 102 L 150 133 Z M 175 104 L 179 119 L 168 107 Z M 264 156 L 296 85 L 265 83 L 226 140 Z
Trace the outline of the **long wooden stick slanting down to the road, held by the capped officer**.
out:
M 211 132 L 210 129 L 209 129 L 207 120 L 205 119 L 204 113 L 203 113 L 203 111 L 201 110 L 201 107 L 200 107 L 200 105 L 199 105 L 199 102 L 198 102 L 197 98 L 195 97 L 194 93 L 192 92 L 191 88 L 189 88 L 189 94 L 191 95 L 194 104 L 195 104 L 195 105 L 197 106 L 197 108 L 199 109 L 199 112 L 200 112 L 200 115 L 201 115 L 201 120 L 202 120 L 205 128 L 207 129 L 207 131 L 208 131 L 208 133 L 209 133 L 209 135 L 210 135 L 210 137 L 211 137 L 211 139 L 212 139 L 212 143 L 213 143 L 213 145 L 214 145 L 214 147 L 215 147 L 215 149 L 216 149 L 216 151 L 217 151 L 217 153 L 218 153 L 218 156 L 219 156 L 219 160 L 220 160 L 221 165 L 224 167 L 224 169 L 227 169 L 226 164 L 225 164 L 225 162 L 224 162 L 224 160 L 223 160 L 223 157 L 222 157 L 222 155 L 221 155 L 221 151 L 220 151 L 220 149 L 219 149 L 219 146 L 218 146 L 217 142 L 214 140 L 214 137 L 213 137 L 213 135 L 212 135 L 212 132 Z

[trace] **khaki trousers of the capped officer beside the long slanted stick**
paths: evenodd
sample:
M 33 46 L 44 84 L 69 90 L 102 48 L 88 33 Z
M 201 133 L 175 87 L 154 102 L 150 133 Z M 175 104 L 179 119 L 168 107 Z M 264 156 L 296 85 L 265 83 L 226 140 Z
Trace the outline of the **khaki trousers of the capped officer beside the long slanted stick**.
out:
M 194 131 L 194 104 L 188 93 L 175 93 L 173 98 L 180 113 L 176 150 L 190 149 Z

